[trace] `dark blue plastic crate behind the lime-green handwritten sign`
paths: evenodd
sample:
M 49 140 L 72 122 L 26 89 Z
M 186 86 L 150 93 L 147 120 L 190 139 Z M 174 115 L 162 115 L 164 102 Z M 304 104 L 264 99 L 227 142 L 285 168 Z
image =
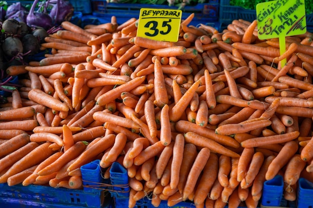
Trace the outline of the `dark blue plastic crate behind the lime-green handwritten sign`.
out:
M 245 9 L 240 6 L 230 5 L 230 0 L 219 1 L 219 18 L 221 24 L 229 24 L 234 19 L 253 21 L 256 19 L 255 9 Z M 313 13 L 306 15 L 306 25 L 313 26 Z

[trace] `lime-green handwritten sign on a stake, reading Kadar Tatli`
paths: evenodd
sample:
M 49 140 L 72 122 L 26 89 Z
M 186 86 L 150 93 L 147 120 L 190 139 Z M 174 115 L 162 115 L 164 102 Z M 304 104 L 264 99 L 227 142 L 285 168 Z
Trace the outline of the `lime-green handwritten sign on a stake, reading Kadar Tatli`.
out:
M 259 39 L 279 38 L 280 54 L 285 52 L 285 36 L 306 31 L 304 0 L 273 0 L 256 4 Z M 285 65 L 285 59 L 281 65 Z

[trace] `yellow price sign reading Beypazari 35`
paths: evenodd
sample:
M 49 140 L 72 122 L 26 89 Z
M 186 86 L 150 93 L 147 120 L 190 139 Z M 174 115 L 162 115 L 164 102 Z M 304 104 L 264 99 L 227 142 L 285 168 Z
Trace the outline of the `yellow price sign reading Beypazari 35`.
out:
M 179 9 L 141 8 L 137 36 L 176 42 L 182 11 Z

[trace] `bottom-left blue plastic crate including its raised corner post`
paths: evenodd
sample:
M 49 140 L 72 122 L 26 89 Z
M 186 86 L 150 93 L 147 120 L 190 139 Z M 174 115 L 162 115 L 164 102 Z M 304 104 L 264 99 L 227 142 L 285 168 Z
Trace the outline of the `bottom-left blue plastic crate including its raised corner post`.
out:
M 43 185 L 8 186 L 0 184 L 1 208 L 110 208 L 112 198 L 103 188 L 99 161 L 86 164 L 81 169 L 83 189 L 71 190 Z M 95 167 L 96 166 L 96 167 Z M 90 182 L 100 182 L 100 189 L 92 189 Z M 105 181 L 104 181 L 105 183 Z M 100 185 L 97 185 L 99 187 Z

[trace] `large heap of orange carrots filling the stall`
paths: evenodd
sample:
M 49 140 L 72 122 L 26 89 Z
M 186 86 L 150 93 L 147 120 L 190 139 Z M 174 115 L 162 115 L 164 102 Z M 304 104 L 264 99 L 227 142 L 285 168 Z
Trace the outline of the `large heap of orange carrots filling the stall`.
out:
M 193 15 L 177 42 L 137 37 L 136 18 L 65 21 L 41 44 L 51 54 L 8 68 L 22 87 L 0 106 L 0 183 L 81 189 L 99 159 L 104 178 L 126 168 L 129 208 L 256 208 L 276 175 L 295 201 L 299 177 L 313 182 L 313 34 L 279 54 L 256 20 L 217 31 Z

